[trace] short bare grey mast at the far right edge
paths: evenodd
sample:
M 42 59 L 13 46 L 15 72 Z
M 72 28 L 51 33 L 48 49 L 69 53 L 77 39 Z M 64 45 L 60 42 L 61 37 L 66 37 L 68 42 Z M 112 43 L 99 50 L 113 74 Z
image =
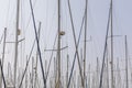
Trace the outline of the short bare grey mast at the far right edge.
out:
M 128 78 L 128 43 L 125 35 L 125 74 L 127 74 L 127 88 L 129 88 L 129 78 Z

